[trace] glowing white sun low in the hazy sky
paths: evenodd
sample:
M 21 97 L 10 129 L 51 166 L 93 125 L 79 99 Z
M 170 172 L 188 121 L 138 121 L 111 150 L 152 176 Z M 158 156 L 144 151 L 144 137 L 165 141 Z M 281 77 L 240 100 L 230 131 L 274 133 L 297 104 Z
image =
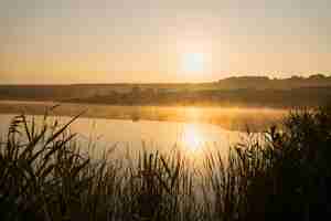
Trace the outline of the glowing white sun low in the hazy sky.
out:
M 201 73 L 205 69 L 203 53 L 184 53 L 181 57 L 181 71 L 184 73 Z

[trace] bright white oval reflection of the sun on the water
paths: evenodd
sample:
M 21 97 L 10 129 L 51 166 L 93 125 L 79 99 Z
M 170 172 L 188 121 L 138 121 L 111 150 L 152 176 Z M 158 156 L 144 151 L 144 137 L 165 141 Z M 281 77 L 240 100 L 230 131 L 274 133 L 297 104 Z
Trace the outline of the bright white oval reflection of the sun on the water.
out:
M 185 148 L 192 151 L 196 151 L 204 145 L 205 140 L 202 133 L 199 130 L 199 126 L 194 124 L 188 124 L 183 130 L 182 144 Z

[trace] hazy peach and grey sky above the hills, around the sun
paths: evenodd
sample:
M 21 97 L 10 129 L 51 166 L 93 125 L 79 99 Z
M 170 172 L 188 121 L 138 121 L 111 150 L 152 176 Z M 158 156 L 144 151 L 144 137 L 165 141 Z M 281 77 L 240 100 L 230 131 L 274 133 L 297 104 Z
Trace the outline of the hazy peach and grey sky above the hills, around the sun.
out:
M 0 83 L 330 73 L 330 0 L 0 0 Z M 182 73 L 192 53 L 203 72 Z

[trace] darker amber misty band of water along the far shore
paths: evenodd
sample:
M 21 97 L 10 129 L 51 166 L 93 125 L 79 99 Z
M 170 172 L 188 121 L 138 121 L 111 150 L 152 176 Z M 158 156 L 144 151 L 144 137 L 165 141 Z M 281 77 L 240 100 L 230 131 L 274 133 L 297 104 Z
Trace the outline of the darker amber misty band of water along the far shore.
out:
M 0 113 L 21 114 L 24 112 L 29 115 L 43 115 L 45 108 L 50 108 L 53 105 L 54 103 L 0 101 Z M 250 130 L 265 130 L 269 125 L 281 119 L 287 113 L 286 109 L 270 108 L 61 104 L 51 114 L 56 116 L 76 116 L 82 110 L 86 110 L 84 117 L 88 118 L 202 123 L 243 131 L 246 131 L 246 125 L 250 126 Z

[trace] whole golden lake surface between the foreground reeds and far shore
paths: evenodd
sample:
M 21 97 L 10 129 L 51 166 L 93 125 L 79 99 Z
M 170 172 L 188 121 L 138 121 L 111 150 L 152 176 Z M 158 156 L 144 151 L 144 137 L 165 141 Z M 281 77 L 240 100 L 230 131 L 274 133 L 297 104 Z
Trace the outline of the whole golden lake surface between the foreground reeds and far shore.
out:
M 20 103 L 2 103 L 2 105 L 3 104 L 12 109 L 23 107 Z M 29 105 L 35 107 L 39 104 L 24 103 L 24 107 Z M 40 114 L 31 110 L 40 108 L 41 107 L 30 107 L 30 110 L 25 113 L 32 115 Z M 77 113 L 77 109 L 73 106 L 65 105 L 62 108 L 64 110 L 62 110 L 63 113 L 57 113 L 58 115 L 64 115 L 66 108 L 70 109 L 71 113 Z M 226 152 L 229 146 L 245 139 L 246 133 L 243 131 L 243 129 L 241 129 L 243 127 L 238 125 L 242 124 L 245 126 L 247 123 L 245 120 L 247 119 L 253 123 L 257 122 L 258 124 L 261 122 L 270 122 L 271 119 L 275 120 L 285 113 L 285 110 L 264 108 L 250 108 L 245 110 L 239 108 L 164 107 L 162 109 L 162 107 L 140 107 L 140 109 L 138 109 L 139 112 L 137 112 L 137 107 L 93 106 L 92 108 L 94 108 L 92 113 L 95 114 L 76 119 L 70 128 L 71 131 L 77 133 L 76 140 L 83 148 L 92 143 L 95 146 L 94 151 L 96 154 L 100 154 L 109 148 L 115 148 L 116 156 L 127 155 L 128 152 L 130 155 L 137 155 L 142 149 L 163 152 L 173 148 L 181 148 L 181 150 L 192 156 L 200 155 L 207 149 L 217 149 Z M 2 108 L 2 110 L 3 109 L 6 108 Z M 152 112 L 150 109 L 152 109 Z M 152 114 L 148 114 L 148 112 Z M 0 114 L 0 134 L 2 136 L 7 133 L 10 120 L 17 115 L 14 113 L 15 112 Z M 106 117 L 99 116 L 103 113 Z M 127 115 L 125 115 L 126 113 Z M 130 115 L 132 113 L 138 113 L 138 117 L 132 117 Z M 164 117 L 167 113 L 170 117 Z M 213 119 L 212 116 L 215 118 L 214 122 L 211 120 Z M 29 118 L 31 120 L 31 116 Z M 36 122 L 41 122 L 42 117 L 36 116 L 35 119 Z M 55 119 L 60 120 L 61 124 L 65 124 L 71 117 L 50 117 L 51 122 Z M 235 125 L 237 127 L 223 126 L 218 124 L 221 119 L 224 119 L 226 125 L 229 125 L 228 123 L 231 123 L 231 120 L 236 119 Z

